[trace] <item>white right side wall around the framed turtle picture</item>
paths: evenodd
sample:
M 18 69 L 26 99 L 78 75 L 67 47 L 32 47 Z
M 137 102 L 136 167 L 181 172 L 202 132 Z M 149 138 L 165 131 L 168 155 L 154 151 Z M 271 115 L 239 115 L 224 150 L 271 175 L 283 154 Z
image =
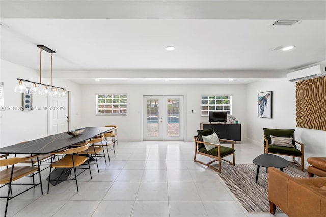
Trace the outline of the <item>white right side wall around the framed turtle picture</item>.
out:
M 263 151 L 263 127 L 295 129 L 295 139 L 304 143 L 305 162 L 308 157 L 326 156 L 326 131 L 296 127 L 295 82 L 264 80 L 247 87 L 247 137 L 261 146 Z M 258 93 L 273 91 L 273 118 L 258 117 Z

